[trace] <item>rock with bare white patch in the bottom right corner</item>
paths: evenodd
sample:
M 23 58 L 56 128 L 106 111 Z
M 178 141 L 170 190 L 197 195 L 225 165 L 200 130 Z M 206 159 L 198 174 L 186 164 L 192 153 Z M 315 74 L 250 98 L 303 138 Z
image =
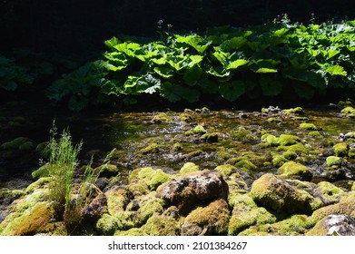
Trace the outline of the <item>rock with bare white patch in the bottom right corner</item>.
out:
M 330 214 L 320 220 L 307 236 L 355 236 L 355 218 L 345 214 Z

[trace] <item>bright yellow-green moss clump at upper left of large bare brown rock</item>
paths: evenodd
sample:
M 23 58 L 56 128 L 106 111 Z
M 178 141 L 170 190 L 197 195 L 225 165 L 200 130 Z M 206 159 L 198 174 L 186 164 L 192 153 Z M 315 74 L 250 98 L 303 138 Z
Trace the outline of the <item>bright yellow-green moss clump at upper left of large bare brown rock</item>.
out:
M 154 170 L 153 168 L 141 169 L 138 172 L 138 176 L 145 181 L 150 190 L 156 190 L 159 185 L 172 179 L 169 174 L 164 173 L 162 170 Z

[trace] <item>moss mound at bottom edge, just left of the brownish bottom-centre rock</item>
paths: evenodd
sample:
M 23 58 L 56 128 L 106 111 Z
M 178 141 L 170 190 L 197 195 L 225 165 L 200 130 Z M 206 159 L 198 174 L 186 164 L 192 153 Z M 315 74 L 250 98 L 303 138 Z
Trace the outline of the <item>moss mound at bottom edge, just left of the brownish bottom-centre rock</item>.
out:
M 153 215 L 143 226 L 149 236 L 178 236 L 180 227 L 176 220 L 169 216 Z

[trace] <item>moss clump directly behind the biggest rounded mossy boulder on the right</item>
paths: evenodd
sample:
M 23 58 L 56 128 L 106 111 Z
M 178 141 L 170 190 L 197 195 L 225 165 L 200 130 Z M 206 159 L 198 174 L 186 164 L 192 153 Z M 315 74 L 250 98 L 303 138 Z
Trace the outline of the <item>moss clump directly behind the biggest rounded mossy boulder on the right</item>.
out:
M 279 169 L 281 177 L 298 179 L 301 181 L 311 181 L 312 173 L 309 168 L 294 161 L 284 163 Z

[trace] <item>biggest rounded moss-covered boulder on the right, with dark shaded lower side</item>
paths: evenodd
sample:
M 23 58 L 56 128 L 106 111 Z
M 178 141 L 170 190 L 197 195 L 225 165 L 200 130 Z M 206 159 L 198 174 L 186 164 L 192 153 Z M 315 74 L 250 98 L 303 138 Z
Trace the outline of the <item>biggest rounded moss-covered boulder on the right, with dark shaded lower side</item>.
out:
M 314 202 L 307 191 L 298 190 L 271 173 L 262 175 L 252 183 L 251 196 L 267 210 L 286 213 L 311 213 Z

